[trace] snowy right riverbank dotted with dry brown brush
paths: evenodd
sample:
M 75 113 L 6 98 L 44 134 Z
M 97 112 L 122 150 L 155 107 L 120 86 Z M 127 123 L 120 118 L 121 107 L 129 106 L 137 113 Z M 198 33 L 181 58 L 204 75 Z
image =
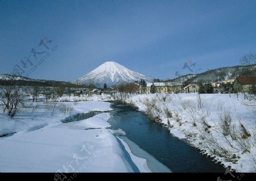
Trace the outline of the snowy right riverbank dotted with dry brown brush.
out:
M 243 103 L 243 95 L 144 94 L 127 102 L 225 167 L 256 171 L 256 110 Z

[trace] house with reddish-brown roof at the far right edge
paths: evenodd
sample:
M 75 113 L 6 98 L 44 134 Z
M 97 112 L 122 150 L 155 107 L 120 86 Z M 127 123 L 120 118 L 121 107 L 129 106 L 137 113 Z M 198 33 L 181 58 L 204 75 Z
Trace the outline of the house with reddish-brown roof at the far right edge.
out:
M 237 77 L 234 82 L 234 90 L 237 92 L 248 92 L 253 85 L 256 85 L 256 76 Z

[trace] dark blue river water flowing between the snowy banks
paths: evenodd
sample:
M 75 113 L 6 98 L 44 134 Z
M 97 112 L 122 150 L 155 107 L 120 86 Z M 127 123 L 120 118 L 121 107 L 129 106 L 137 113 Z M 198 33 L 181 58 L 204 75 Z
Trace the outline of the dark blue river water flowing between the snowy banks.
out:
M 133 107 L 112 103 L 110 129 L 122 129 L 126 137 L 147 151 L 172 172 L 225 172 L 224 167 L 201 155 L 196 148 L 172 136 L 143 112 Z

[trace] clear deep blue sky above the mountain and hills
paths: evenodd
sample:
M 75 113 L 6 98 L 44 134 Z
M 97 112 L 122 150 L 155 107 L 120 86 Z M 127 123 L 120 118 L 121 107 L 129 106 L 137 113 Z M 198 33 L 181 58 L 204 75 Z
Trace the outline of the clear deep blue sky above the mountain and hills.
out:
M 250 52 L 256 1 L 0 0 L 0 73 L 73 81 L 115 61 L 166 79 Z

